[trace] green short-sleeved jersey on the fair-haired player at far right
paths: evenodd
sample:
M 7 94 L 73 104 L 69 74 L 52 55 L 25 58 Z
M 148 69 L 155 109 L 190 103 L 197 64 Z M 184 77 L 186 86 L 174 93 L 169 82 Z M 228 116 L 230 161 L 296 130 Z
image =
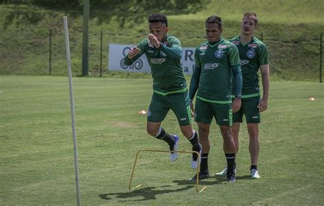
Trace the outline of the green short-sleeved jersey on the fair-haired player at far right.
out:
M 260 65 L 269 64 L 267 47 L 254 36 L 251 42 L 244 45 L 241 36 L 230 39 L 230 42 L 239 49 L 243 78 L 242 98 L 260 96 L 258 70 Z

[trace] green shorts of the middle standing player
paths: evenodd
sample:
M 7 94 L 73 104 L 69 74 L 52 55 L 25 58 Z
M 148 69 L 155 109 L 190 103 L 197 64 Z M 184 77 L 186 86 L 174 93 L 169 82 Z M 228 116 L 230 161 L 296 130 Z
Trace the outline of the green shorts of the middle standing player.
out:
M 211 124 L 213 117 L 217 125 L 232 126 L 232 104 L 210 103 L 195 99 L 195 122 Z

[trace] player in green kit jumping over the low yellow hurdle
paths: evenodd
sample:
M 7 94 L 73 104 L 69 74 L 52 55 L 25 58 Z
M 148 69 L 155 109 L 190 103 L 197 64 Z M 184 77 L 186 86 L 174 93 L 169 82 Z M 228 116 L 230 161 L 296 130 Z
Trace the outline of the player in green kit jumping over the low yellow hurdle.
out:
M 161 127 L 167 112 L 171 109 L 180 125 L 183 135 L 191 142 L 192 150 L 201 153 L 198 134 L 191 127 L 190 101 L 186 79 L 180 59 L 182 48 L 180 40 L 167 34 L 167 17 L 163 14 L 148 16 L 150 34 L 131 49 L 124 58 L 124 64 L 131 65 L 144 53 L 150 64 L 153 77 L 153 94 L 148 107 L 147 132 L 154 138 L 169 144 L 170 160 L 178 159 L 178 136 L 171 135 Z M 193 153 L 191 168 L 197 168 L 198 155 Z

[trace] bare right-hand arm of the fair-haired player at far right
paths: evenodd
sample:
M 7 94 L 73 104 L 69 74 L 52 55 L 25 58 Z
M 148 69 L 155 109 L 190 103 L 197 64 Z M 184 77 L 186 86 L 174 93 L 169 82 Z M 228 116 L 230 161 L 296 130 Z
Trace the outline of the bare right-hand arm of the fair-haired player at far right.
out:
M 268 97 L 269 97 L 269 64 L 260 66 L 261 76 L 262 76 L 262 99 L 258 105 L 259 111 L 263 112 L 268 108 Z

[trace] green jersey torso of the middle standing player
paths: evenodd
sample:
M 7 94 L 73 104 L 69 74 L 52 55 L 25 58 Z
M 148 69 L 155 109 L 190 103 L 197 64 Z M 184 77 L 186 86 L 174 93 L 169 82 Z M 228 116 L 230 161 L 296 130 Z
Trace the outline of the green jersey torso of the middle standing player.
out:
M 231 103 L 231 66 L 239 65 L 239 51 L 221 38 L 204 42 L 195 49 L 195 69 L 200 69 L 197 98 L 213 103 Z

